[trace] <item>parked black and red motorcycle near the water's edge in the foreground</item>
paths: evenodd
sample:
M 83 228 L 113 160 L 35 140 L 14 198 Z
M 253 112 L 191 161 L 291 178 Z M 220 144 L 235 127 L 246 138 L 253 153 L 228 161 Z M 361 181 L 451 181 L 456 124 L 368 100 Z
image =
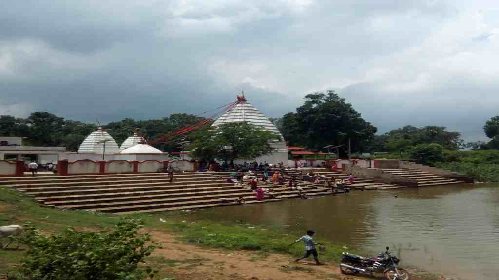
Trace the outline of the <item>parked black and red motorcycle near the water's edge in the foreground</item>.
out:
M 362 273 L 383 273 L 388 280 L 409 280 L 410 275 L 404 269 L 397 268 L 400 260 L 389 252 L 378 254 L 375 258 L 363 258 L 358 255 L 343 252 L 340 270 L 346 275 Z

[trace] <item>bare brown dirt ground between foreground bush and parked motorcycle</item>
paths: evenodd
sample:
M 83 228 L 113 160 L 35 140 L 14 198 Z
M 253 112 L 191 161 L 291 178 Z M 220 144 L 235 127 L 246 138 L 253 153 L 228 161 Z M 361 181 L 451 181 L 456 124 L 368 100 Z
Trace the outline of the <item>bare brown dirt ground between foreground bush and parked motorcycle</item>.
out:
M 336 264 L 316 266 L 313 259 L 296 264 L 291 256 L 204 249 L 181 243 L 167 233 L 151 232 L 151 235 L 163 245 L 162 249 L 155 250 L 153 262 L 176 280 L 374 279 L 344 276 Z

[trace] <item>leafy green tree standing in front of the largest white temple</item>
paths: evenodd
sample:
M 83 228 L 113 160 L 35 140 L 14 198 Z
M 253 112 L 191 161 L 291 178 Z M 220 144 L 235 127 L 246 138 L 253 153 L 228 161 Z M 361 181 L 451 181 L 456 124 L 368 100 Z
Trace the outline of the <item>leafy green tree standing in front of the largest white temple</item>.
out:
M 275 150 L 271 142 L 280 140 L 277 134 L 247 122 L 206 127 L 192 138 L 194 141 L 188 146 L 192 157 L 205 160 L 217 158 L 228 162 L 270 154 Z

